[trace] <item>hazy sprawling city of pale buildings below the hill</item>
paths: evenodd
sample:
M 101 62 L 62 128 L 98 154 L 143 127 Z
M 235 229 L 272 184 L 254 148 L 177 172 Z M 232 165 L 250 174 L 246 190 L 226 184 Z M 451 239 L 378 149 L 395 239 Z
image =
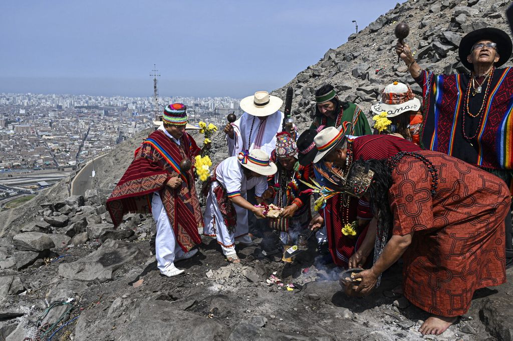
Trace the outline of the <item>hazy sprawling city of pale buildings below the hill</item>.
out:
M 229 113 L 241 113 L 239 101 L 156 92 L 148 97 L 0 93 L 0 198 L 56 183 L 154 126 L 169 103 L 186 104 L 192 124 L 204 120 L 221 125 Z

